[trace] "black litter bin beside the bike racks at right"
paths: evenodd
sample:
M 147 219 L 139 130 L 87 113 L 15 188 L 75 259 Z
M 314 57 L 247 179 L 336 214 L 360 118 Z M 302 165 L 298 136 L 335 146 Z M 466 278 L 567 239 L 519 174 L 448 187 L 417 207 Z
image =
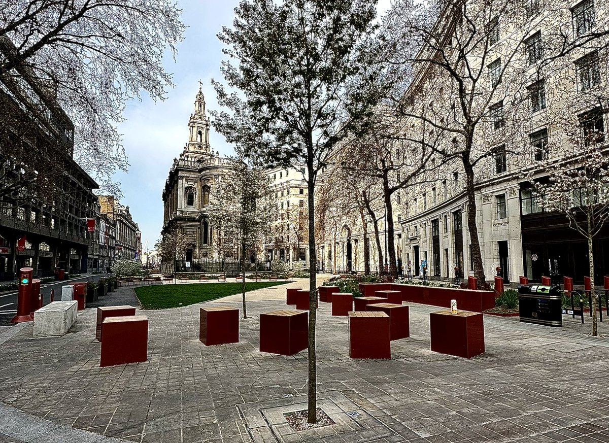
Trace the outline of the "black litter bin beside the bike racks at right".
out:
M 560 287 L 521 285 L 518 287 L 520 321 L 524 323 L 563 326 Z

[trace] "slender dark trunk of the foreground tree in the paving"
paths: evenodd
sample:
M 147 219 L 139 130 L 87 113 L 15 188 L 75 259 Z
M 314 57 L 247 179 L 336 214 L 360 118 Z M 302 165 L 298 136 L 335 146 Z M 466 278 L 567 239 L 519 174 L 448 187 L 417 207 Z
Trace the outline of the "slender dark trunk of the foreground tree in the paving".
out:
M 312 144 L 308 149 L 307 169 L 309 180 L 307 181 L 307 196 L 309 200 L 309 404 L 308 422 L 317 423 L 317 357 L 315 355 L 315 321 L 317 319 L 317 253 L 315 252 L 315 200 L 314 200 L 314 171 Z

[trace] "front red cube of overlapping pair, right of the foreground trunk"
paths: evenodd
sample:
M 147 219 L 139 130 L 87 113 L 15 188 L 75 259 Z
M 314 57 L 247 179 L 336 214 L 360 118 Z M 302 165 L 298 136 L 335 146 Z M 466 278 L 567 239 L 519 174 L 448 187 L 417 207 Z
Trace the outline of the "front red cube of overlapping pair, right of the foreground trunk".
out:
M 389 316 L 384 312 L 349 313 L 349 357 L 391 358 Z

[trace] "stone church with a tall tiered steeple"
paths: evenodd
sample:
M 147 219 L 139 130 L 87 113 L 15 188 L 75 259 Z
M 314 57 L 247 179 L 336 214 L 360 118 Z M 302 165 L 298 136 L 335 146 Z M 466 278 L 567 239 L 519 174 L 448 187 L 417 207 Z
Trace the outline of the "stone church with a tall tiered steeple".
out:
M 213 228 L 209 224 L 209 193 L 219 177 L 230 170 L 231 161 L 214 154 L 209 144 L 209 117 L 199 88 L 194 113 L 188 121 L 188 143 L 174 159 L 163 190 L 163 231 L 177 226 L 188 238 L 185 262 L 217 258 L 213 248 Z

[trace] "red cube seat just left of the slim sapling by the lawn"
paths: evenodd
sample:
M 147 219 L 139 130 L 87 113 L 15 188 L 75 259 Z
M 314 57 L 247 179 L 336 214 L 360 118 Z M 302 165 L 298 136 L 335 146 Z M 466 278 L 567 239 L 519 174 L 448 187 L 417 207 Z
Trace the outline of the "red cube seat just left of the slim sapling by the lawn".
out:
M 239 309 L 200 308 L 199 340 L 205 346 L 239 343 Z

